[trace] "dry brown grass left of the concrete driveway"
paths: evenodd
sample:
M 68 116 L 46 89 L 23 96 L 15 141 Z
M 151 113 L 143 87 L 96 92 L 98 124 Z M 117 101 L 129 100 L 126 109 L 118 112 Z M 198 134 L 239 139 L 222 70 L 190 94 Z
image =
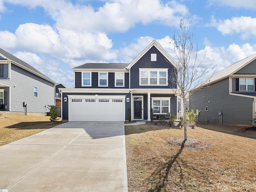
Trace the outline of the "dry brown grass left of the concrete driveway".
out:
M 0 117 L 0 146 L 62 123 L 50 122 L 49 116 L 0 115 Z

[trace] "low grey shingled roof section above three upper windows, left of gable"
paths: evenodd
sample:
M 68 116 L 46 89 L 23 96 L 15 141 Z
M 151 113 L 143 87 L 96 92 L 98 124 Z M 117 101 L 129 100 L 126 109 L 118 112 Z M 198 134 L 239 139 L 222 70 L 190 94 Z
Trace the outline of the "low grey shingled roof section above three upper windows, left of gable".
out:
M 72 70 L 85 70 L 85 69 L 124 70 L 127 66 L 128 66 L 128 63 L 86 63 L 78 67 L 72 68 Z

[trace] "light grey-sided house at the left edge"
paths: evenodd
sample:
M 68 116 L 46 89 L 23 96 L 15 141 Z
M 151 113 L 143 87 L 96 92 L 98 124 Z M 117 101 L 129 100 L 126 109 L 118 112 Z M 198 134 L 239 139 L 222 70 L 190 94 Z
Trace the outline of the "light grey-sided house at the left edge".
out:
M 47 105 L 54 105 L 54 84 L 26 62 L 0 49 L 0 110 L 45 114 Z

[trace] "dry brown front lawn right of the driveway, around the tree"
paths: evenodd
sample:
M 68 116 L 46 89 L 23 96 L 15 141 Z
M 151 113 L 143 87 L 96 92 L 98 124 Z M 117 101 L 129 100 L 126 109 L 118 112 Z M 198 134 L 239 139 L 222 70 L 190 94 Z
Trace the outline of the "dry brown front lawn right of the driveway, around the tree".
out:
M 188 129 L 184 146 L 176 142 L 184 128 L 126 126 L 129 192 L 256 191 L 256 131 L 198 126 Z M 199 146 L 189 147 L 193 144 Z

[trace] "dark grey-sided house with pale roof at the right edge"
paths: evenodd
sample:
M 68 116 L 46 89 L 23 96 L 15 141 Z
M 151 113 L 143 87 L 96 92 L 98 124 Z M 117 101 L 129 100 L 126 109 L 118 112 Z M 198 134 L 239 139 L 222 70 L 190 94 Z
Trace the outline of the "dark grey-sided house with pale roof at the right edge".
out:
M 190 97 L 198 121 L 252 125 L 256 112 L 256 54 L 216 72 Z

